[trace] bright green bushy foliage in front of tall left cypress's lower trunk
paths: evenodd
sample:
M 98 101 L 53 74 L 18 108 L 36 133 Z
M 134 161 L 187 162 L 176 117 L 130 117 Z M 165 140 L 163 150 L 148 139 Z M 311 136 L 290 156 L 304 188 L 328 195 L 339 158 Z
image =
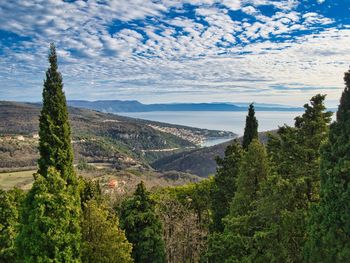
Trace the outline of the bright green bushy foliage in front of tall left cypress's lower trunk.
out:
M 80 262 L 80 200 L 58 171 L 35 175 L 21 212 L 19 262 Z

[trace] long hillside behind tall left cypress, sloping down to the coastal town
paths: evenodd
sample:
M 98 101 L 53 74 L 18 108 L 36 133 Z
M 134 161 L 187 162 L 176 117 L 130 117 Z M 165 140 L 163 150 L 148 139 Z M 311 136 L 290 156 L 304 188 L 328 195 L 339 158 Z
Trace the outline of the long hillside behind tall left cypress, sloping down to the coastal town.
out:
M 0 102 L 0 169 L 35 166 L 40 104 Z M 148 122 L 88 109 L 69 108 L 77 160 L 124 166 L 148 163 L 174 152 L 197 148 L 209 137 L 231 132 Z

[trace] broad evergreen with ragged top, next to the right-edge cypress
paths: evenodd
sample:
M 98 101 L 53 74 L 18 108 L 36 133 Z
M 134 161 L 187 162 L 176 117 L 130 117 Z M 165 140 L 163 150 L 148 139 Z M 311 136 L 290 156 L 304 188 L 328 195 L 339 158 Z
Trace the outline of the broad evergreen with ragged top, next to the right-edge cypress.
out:
M 264 227 L 254 237 L 259 247 L 255 254 L 262 261 L 302 261 L 309 206 L 318 200 L 319 149 L 331 117 L 324 99 L 324 95 L 312 97 L 295 127 L 281 127 L 269 139 L 274 172 L 259 193 L 257 213 Z

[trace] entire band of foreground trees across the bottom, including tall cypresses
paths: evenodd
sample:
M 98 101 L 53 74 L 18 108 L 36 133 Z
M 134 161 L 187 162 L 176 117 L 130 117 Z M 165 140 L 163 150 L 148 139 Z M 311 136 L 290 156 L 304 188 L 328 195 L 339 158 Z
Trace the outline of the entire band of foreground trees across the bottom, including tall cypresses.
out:
M 76 175 L 54 45 L 49 62 L 33 187 L 0 191 L 0 262 L 349 262 L 350 70 L 332 124 L 318 94 L 263 144 L 251 104 L 213 177 L 112 199 Z

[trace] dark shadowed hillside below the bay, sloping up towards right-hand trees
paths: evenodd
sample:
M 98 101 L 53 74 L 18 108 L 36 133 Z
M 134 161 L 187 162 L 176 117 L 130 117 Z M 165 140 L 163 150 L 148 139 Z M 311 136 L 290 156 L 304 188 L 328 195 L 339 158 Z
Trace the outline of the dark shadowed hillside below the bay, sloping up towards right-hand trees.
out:
M 274 133 L 276 131 L 270 132 Z M 266 143 L 267 133 L 259 133 L 259 140 L 261 142 Z M 239 140 L 241 141 L 242 138 L 239 138 Z M 151 166 L 160 171 L 179 171 L 207 177 L 216 171 L 215 157 L 223 157 L 226 147 L 231 142 L 176 153 L 153 162 Z

